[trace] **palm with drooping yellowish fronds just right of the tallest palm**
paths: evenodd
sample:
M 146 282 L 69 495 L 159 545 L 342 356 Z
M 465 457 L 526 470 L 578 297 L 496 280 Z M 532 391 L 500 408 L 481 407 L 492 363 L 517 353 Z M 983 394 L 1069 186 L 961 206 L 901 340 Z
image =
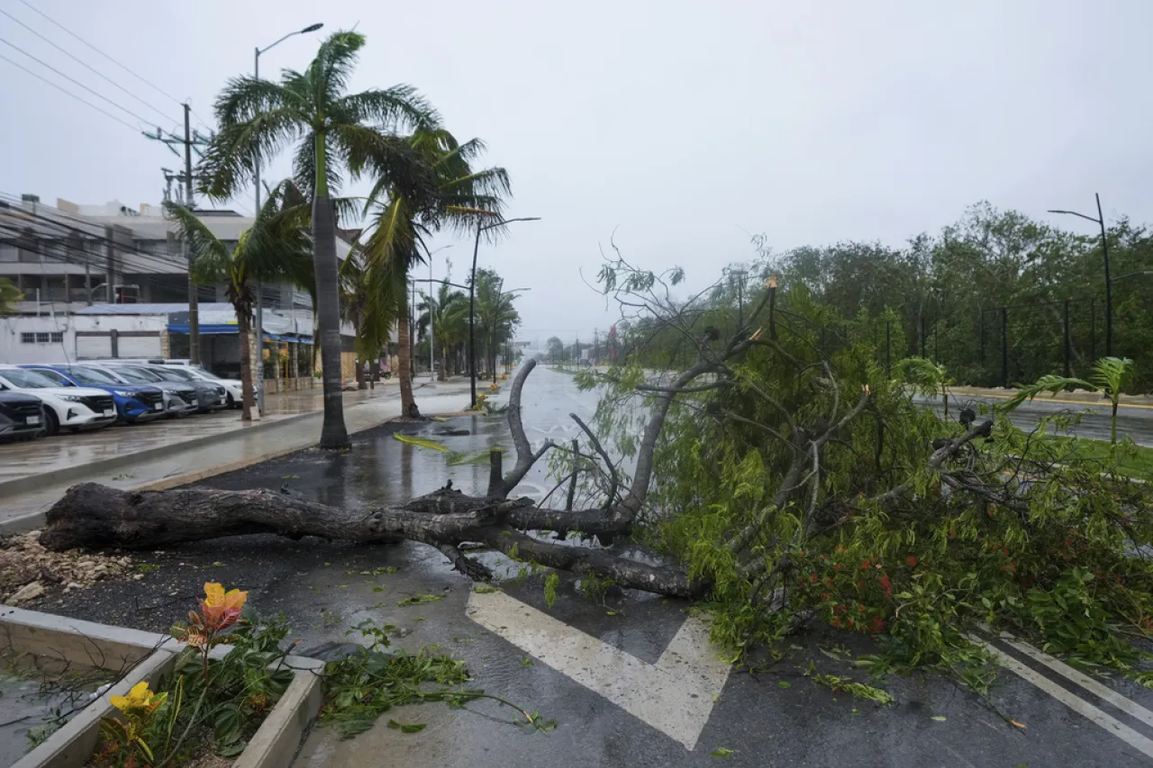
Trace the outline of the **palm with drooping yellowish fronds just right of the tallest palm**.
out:
M 387 173 L 390 158 L 374 163 L 378 180 L 366 208 L 372 220 L 364 242 L 369 287 L 364 314 L 369 323 L 391 327 L 395 322 L 401 411 L 417 417 L 409 366 L 408 273 L 424 263 L 429 235 L 444 228 L 472 232 L 478 220 L 499 216 L 511 190 L 504 168 L 473 170 L 484 151 L 480 140 L 459 143 L 447 130 L 421 128 L 407 143 L 422 168 L 397 174 Z

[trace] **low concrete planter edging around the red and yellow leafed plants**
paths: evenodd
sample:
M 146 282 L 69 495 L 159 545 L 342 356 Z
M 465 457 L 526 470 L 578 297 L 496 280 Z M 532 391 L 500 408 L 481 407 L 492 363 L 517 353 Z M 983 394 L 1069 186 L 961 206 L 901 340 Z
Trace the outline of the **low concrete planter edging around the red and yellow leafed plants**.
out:
M 164 634 L 3 607 L 0 608 L 0 652 L 5 650 L 76 664 L 96 664 L 116 672 L 131 665 L 131 671 L 123 679 L 13 766 L 82 768 L 96 748 L 100 720 L 114 711 L 108 697 L 125 695 L 141 680 L 155 684 L 172 669 L 181 646 Z M 217 646 L 212 654 L 219 657 L 229 650 L 228 646 Z M 293 680 L 244 752 L 236 758 L 233 768 L 284 768 L 292 765 L 303 735 L 319 713 L 324 662 L 288 656 L 285 663 L 294 671 Z

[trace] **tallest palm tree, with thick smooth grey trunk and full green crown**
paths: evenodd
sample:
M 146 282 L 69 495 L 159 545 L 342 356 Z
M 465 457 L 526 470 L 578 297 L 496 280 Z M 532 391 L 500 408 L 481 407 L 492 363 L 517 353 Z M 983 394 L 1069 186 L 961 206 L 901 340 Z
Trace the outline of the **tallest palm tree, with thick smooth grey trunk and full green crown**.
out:
M 336 211 L 330 194 L 341 172 L 359 178 L 371 158 L 378 179 L 404 185 L 417 164 L 395 131 L 435 128 L 432 108 L 409 85 L 346 93 L 364 46 L 357 32 L 336 32 L 303 73 L 285 69 L 280 82 L 233 77 L 216 101 L 220 131 L 201 163 L 202 187 L 214 198 L 236 195 L 258 164 L 299 142 L 294 156 L 297 182 L 312 202 L 314 272 L 324 374 L 324 426 L 321 447 L 348 443 L 341 399 L 340 296 L 337 274 Z

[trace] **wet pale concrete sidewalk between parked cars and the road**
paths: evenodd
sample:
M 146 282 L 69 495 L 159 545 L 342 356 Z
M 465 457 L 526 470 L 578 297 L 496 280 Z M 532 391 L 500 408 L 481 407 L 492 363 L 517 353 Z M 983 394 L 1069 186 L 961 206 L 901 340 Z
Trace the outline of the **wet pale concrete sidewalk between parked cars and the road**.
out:
M 468 406 L 468 399 L 467 383 L 464 386 L 459 383 L 425 383 L 416 391 L 416 404 L 424 414 L 459 413 Z M 303 401 L 304 398 L 299 400 Z M 317 398 L 317 406 L 322 401 L 323 399 Z M 389 387 L 384 393 L 379 389 L 346 392 L 345 402 L 345 423 L 349 434 L 378 427 L 401 414 L 399 391 L 395 387 Z M 15 533 L 42 525 L 44 511 L 65 490 L 77 483 L 99 482 L 133 490 L 182 485 L 315 445 L 322 421 L 323 414 L 312 411 L 221 429 L 199 438 L 194 432 L 187 435 L 188 439 L 172 438 L 122 457 L 104 455 L 81 462 L 82 455 L 77 455 L 74 459 L 76 464 L 29 475 L 30 480 L 16 481 L 18 485 L 13 485 L 12 481 L 0 485 L 0 533 Z M 187 432 L 194 423 L 187 422 L 184 426 L 184 422 L 176 422 L 175 426 L 183 427 Z M 86 437 L 99 438 L 101 434 Z M 23 447 L 28 451 L 30 446 L 17 444 L 8 447 L 16 447 L 17 451 Z M 8 490 L 13 488 L 15 490 Z

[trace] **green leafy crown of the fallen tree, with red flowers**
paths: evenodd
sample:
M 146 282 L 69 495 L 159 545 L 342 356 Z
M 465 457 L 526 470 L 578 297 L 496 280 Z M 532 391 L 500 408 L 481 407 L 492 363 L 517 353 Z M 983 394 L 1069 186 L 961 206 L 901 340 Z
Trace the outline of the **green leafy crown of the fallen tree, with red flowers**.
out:
M 770 289 L 741 327 L 724 291 L 669 299 L 668 277 L 636 272 L 602 271 L 633 315 L 627 359 L 580 381 L 602 392 L 597 431 L 621 469 L 675 396 L 633 535 L 709 586 L 733 657 L 822 622 L 873 635 L 877 671 L 932 667 L 984 688 L 967 633 L 987 623 L 1150 683 L 1129 635 L 1153 637 L 1153 565 L 1137 555 L 1153 543 L 1151 491 L 1078 459 L 1057 435 L 1070 416 L 1024 432 L 1001 412 L 935 415 L 886 372 L 866 314 L 846 323 L 804 283 Z M 927 361 L 900 368 L 945 381 Z

